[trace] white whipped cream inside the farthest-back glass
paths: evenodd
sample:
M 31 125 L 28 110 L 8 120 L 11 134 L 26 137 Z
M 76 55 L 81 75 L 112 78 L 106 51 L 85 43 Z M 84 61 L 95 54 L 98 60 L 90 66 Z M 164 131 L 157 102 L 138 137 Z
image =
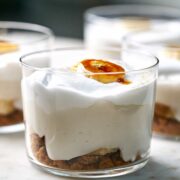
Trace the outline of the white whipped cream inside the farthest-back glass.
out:
M 149 22 L 149 26 L 147 25 L 147 29 L 150 27 L 160 28 L 161 23 L 167 22 L 161 19 L 147 19 Z M 133 21 L 132 21 L 133 22 Z M 114 19 L 106 19 L 102 20 L 94 20 L 93 23 L 86 24 L 85 26 L 85 43 L 87 47 L 91 48 L 99 48 L 99 46 L 115 46 L 119 47 L 122 43 L 122 38 L 130 32 L 137 30 L 144 30 L 144 26 L 139 29 L 136 28 L 128 28 L 124 24 L 126 23 L 126 19 L 123 18 L 114 18 Z M 138 23 L 138 21 L 137 21 Z M 164 28 L 164 26 L 163 26 Z M 146 29 L 146 28 L 145 28 Z M 151 38 L 149 38 L 151 39 Z

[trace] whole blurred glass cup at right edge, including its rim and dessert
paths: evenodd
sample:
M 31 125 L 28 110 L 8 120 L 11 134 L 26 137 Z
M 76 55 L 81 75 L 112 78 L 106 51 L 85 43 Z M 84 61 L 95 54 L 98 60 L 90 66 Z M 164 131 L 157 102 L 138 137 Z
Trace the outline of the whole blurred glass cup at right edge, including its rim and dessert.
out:
M 151 52 L 160 60 L 153 131 L 156 136 L 180 139 L 180 21 L 131 33 L 124 48 Z

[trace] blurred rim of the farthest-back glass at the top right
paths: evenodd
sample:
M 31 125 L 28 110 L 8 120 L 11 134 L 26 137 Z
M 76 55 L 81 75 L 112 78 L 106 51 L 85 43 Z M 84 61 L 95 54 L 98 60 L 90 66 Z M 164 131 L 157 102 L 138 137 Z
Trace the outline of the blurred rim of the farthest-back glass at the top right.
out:
M 113 10 L 110 11 L 110 9 L 113 9 Z M 108 20 L 109 17 L 103 17 L 103 15 L 100 13 L 103 12 L 106 15 L 113 15 L 113 14 L 119 13 L 119 16 L 121 17 L 121 14 L 123 15 L 127 13 L 126 11 L 124 11 L 124 9 L 131 10 L 131 13 L 132 11 L 134 11 L 134 14 L 137 14 L 137 16 L 139 15 L 139 17 L 142 17 L 143 15 L 146 15 L 146 16 L 153 15 L 154 17 L 156 16 L 158 17 L 161 15 L 159 19 L 165 19 L 163 17 L 171 17 L 174 19 L 180 19 L 180 12 L 178 8 L 169 7 L 167 5 L 161 6 L 161 5 L 151 5 L 151 4 L 122 4 L 122 5 L 111 4 L 111 5 L 96 6 L 96 7 L 87 9 L 84 13 L 84 17 L 86 20 L 90 20 L 90 21 L 91 21 L 91 18 L 92 19 L 96 18 L 99 20 Z M 120 10 L 123 10 L 123 12 Z M 128 12 L 127 16 L 130 17 L 131 13 Z

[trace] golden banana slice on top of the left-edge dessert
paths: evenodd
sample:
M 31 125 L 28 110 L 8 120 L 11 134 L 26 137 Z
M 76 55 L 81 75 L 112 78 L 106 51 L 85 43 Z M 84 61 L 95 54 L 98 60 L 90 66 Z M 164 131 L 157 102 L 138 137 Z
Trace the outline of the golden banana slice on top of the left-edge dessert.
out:
M 0 54 L 14 52 L 18 50 L 18 45 L 8 41 L 0 40 Z

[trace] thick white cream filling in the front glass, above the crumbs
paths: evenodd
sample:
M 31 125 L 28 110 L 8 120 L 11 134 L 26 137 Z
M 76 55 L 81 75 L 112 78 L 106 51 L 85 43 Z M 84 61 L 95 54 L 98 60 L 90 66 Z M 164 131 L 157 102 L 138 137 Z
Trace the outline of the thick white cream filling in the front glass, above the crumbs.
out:
M 122 77 L 107 83 L 102 74 L 93 77 L 72 72 L 71 67 L 36 71 L 22 80 L 28 131 L 45 144 L 48 158 L 70 160 L 102 148 L 106 153 L 119 152 L 124 162 L 145 157 L 151 139 L 154 77 L 121 73 L 130 83 L 119 82 Z

